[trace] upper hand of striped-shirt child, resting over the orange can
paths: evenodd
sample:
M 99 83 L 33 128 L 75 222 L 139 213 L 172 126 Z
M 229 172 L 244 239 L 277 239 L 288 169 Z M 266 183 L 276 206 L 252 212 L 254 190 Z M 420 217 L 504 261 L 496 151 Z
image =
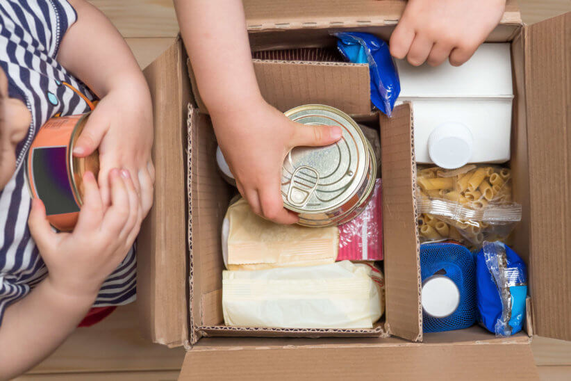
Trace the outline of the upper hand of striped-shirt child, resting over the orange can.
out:
M 126 82 L 110 90 L 90 115 L 74 148 L 88 156 L 99 148 L 99 188 L 104 206 L 110 204 L 109 172 L 129 170 L 141 199 L 143 216 L 153 204 L 155 171 L 151 161 L 153 117 L 146 83 Z

